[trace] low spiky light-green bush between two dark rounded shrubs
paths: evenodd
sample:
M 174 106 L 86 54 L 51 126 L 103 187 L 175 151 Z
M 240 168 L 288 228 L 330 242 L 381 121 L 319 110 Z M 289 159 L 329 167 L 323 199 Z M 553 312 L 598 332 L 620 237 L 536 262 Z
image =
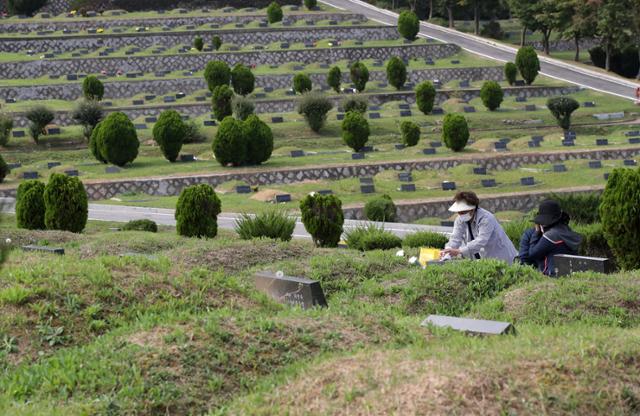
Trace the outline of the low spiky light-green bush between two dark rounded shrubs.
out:
M 236 220 L 235 230 L 243 240 L 271 238 L 291 241 L 296 218 L 280 209 L 271 209 L 256 215 L 242 214 Z

